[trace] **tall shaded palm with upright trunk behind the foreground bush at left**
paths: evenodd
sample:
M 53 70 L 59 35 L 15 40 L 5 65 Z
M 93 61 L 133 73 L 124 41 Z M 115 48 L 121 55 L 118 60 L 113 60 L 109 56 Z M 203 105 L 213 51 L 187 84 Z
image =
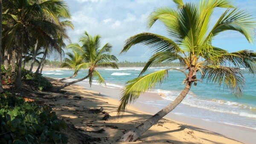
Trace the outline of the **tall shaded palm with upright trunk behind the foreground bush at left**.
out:
M 56 46 L 55 37 L 59 37 L 64 29 L 55 19 L 56 13 L 68 15 L 66 3 L 62 0 L 3 0 L 6 27 L 3 31 L 5 49 L 17 47 L 17 76 L 15 89 L 21 87 L 21 66 L 23 48 L 28 47 L 32 39 L 44 40 L 47 46 Z M 19 37 L 19 38 L 17 38 Z

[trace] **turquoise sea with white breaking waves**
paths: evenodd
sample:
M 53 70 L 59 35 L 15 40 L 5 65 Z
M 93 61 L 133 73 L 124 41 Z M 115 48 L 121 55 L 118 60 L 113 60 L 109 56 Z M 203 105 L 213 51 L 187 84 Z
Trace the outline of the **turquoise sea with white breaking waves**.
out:
M 148 72 L 155 72 L 160 69 L 164 68 L 151 68 Z M 107 87 L 119 89 L 128 80 L 137 78 L 140 71 L 141 68 L 99 69 L 99 72 L 107 82 Z M 43 71 L 44 76 L 52 78 L 64 78 L 72 74 L 73 71 L 71 70 Z M 86 74 L 87 70 L 81 71 L 76 79 L 82 78 Z M 213 84 L 198 82 L 197 86 L 192 86 L 191 92 L 173 112 L 207 121 L 256 129 L 256 77 L 244 72 L 244 78 L 246 82 L 241 97 L 236 97 L 231 92 L 219 89 Z M 161 86 L 156 86 L 150 90 L 151 92 L 164 93 L 166 97 L 162 97 L 163 100 L 149 100 L 143 103 L 163 108 L 173 101 L 184 88 L 184 85 L 182 85 L 183 80 L 183 73 L 175 70 L 169 71 L 169 77 L 166 78 L 166 81 Z M 87 80 L 83 82 L 88 83 Z M 80 83 L 80 85 L 82 84 Z M 93 84 L 97 84 L 97 82 L 94 81 Z

